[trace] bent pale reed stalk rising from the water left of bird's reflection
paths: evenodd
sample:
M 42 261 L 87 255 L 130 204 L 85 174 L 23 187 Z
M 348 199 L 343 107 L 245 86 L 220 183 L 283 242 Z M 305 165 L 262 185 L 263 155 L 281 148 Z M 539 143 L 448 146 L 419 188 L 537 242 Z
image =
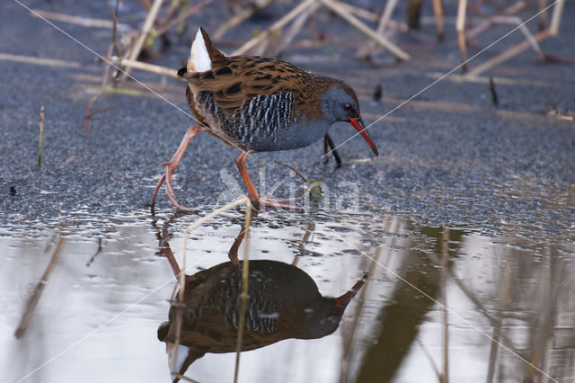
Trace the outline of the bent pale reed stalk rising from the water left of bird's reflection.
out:
M 199 218 L 194 223 L 192 223 L 189 227 L 186 227 L 181 232 L 181 272 L 177 276 L 178 281 L 180 283 L 180 291 L 178 293 L 178 312 L 176 313 L 176 334 L 175 334 L 175 342 L 173 343 L 173 350 L 174 350 L 174 357 L 172 359 L 173 366 L 170 366 L 170 370 L 173 371 L 174 374 L 177 374 L 179 371 L 176 371 L 175 363 L 178 361 L 178 352 L 180 348 L 180 336 L 181 336 L 181 312 L 183 310 L 183 299 L 185 298 L 184 289 L 186 283 L 186 247 L 187 247 L 187 238 L 190 231 L 196 227 L 203 225 L 205 222 L 210 220 L 211 218 L 217 217 L 220 214 L 226 212 L 229 209 L 234 209 L 236 206 L 242 205 L 243 203 L 246 204 L 246 217 L 247 214 L 251 214 L 252 204 L 250 203 L 250 199 L 247 196 L 243 196 L 234 200 L 234 202 L 230 202 L 225 206 L 212 211 L 207 216 Z M 250 213 L 247 212 L 250 210 Z M 246 218 L 247 219 L 247 218 Z

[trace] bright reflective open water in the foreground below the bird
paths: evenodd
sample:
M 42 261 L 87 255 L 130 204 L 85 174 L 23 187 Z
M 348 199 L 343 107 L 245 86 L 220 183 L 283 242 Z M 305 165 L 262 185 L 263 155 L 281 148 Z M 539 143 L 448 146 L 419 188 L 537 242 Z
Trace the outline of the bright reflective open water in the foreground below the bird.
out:
M 165 255 L 171 250 L 181 263 L 181 231 L 199 216 L 140 211 L 88 228 L 5 232 L 2 381 L 170 381 L 156 335 L 176 288 Z M 242 225 L 234 210 L 193 230 L 186 273 L 228 262 Z M 58 233 L 59 258 L 17 339 Z M 368 279 L 333 334 L 243 352 L 240 381 L 420 382 L 446 371 L 452 381 L 575 379 L 572 243 L 419 227 L 385 214 L 277 211 L 253 219 L 249 246 L 251 260 L 296 265 L 324 297 Z M 234 352 L 207 353 L 186 376 L 232 381 L 234 363 Z

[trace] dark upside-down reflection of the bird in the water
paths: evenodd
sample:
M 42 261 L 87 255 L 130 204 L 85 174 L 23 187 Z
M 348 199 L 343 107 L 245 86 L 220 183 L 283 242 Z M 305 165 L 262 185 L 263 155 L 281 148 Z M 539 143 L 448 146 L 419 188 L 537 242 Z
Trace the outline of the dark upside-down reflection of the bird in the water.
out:
M 365 278 L 339 298 L 324 298 L 314 280 L 296 266 L 250 261 L 242 351 L 288 338 L 316 339 L 332 334 Z M 235 352 L 241 292 L 242 268 L 233 263 L 186 276 L 180 339 L 186 350 L 179 351 L 176 370 L 180 375 L 207 352 Z M 176 310 L 171 308 L 170 321 L 158 328 L 162 342 L 175 341 Z

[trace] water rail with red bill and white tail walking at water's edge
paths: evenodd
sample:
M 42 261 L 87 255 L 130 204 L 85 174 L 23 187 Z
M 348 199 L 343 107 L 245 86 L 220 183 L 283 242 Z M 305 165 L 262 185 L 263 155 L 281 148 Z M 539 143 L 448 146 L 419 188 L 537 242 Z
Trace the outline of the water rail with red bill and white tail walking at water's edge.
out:
M 175 208 L 191 211 L 176 200 L 172 175 L 200 131 L 241 150 L 235 164 L 255 207 L 295 208 L 284 203 L 288 200 L 260 197 L 245 169 L 251 154 L 307 147 L 321 138 L 333 149 L 328 130 L 345 121 L 378 156 L 359 113 L 358 95 L 339 79 L 307 72 L 278 58 L 226 57 L 202 27 L 191 44 L 187 67 L 178 70 L 178 77 L 188 82 L 186 99 L 199 125 L 188 128 L 172 159 L 163 164 L 152 204 L 165 181 L 166 195 Z

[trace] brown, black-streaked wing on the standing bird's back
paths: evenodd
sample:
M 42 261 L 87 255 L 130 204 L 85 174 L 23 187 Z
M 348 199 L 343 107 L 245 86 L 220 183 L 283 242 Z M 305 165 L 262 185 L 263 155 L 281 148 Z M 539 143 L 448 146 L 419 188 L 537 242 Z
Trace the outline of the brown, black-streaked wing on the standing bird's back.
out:
M 244 102 L 273 94 L 293 94 L 305 88 L 309 74 L 275 58 L 237 56 L 225 66 L 190 73 L 186 78 L 195 92 L 213 94 L 216 105 L 230 118 L 237 117 Z

